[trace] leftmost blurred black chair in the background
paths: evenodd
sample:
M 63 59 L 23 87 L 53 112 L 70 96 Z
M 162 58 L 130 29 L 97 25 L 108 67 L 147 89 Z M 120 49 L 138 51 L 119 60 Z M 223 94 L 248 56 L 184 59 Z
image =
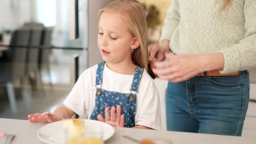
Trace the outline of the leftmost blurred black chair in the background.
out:
M 13 82 L 20 81 L 26 73 L 27 45 L 30 40 L 30 31 L 19 29 L 13 32 L 6 61 L 0 62 L 0 83 L 7 85 L 9 104 L 13 113 L 16 113 L 16 101 Z

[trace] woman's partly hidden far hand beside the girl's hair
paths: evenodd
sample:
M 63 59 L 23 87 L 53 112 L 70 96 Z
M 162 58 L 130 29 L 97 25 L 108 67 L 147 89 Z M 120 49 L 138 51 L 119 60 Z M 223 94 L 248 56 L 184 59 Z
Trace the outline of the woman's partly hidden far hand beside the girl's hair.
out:
M 165 53 L 169 52 L 169 44 L 170 40 L 162 40 L 162 43 L 149 45 L 148 46 L 148 60 L 153 61 L 154 57 L 156 57 L 156 61 L 164 61 Z

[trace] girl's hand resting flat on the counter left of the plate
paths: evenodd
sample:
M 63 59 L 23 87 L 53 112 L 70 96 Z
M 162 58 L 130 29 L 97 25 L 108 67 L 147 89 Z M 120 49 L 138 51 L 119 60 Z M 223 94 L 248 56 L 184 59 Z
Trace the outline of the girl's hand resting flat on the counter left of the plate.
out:
M 34 113 L 33 115 L 28 115 L 28 122 L 45 122 L 45 123 L 52 123 L 56 121 L 65 120 L 65 118 L 61 118 L 55 115 L 42 115 L 42 113 Z M 69 119 L 69 118 L 66 118 Z

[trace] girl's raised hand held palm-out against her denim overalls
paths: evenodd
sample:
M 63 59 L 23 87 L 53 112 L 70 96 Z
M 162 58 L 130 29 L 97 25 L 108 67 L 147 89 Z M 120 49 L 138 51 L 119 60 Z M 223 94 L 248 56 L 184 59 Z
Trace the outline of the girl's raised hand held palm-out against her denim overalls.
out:
M 115 107 L 111 108 L 111 113 L 109 113 L 108 107 L 105 109 L 105 121 L 101 114 L 97 116 L 98 121 L 105 122 L 112 125 L 113 127 L 124 127 L 124 115 L 121 115 L 121 106 L 117 106 L 117 115 L 115 115 Z

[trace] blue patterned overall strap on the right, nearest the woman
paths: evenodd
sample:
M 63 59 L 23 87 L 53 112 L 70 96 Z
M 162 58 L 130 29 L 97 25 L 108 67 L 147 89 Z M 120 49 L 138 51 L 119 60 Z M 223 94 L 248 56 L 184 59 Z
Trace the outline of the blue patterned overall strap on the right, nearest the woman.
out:
M 135 68 L 135 74 L 133 75 L 131 91 L 138 92 L 139 82 L 141 82 L 143 71 L 144 69 L 137 65 Z

